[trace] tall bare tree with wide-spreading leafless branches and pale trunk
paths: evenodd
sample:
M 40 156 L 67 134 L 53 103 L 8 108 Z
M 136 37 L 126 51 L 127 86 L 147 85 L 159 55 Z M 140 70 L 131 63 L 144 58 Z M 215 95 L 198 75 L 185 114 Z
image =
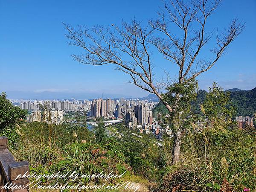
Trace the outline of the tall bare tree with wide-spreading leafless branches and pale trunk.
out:
M 93 26 L 88 29 L 78 26 L 74 29 L 65 23 L 64 26 L 67 29 L 66 36 L 70 39 L 68 44 L 84 50 L 81 55 L 72 55 L 75 61 L 91 65 L 113 64 L 116 70 L 128 74 L 133 84 L 154 93 L 169 112 L 177 113 L 177 105 L 171 106 L 166 102 L 159 90 L 163 83 L 159 83 L 154 76 L 152 48 L 156 47 L 166 60 L 178 66 L 177 80 L 172 82 L 183 83 L 209 70 L 244 29 L 244 23 L 236 18 L 231 20 L 223 32 L 216 30 L 215 47 L 209 50 L 213 58 L 199 55 L 213 37 L 213 31 L 206 31 L 207 19 L 220 3 L 221 0 L 169 0 L 158 12 L 159 17 L 149 20 L 145 27 L 136 20 L 122 22 L 120 27 Z M 182 35 L 174 35 L 174 27 L 181 30 Z M 180 95 L 176 94 L 175 98 L 177 104 Z M 179 162 L 181 137 L 181 129 L 175 129 L 173 163 Z

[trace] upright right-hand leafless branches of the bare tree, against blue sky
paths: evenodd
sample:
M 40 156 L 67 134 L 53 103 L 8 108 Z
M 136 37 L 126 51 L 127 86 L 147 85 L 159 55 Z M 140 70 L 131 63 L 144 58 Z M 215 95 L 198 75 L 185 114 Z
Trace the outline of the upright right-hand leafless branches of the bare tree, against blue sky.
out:
M 169 2 L 169 3 L 167 3 Z M 244 23 L 232 20 L 229 29 L 217 39 L 217 47 L 210 50 L 215 59 L 198 58 L 201 49 L 209 42 L 213 30 L 207 32 L 207 20 L 221 6 L 221 0 L 169 0 L 157 12 L 159 18 L 149 23 L 157 35 L 151 37 L 151 44 L 157 47 L 163 57 L 179 67 L 178 81 L 195 78 L 209 70 L 218 61 L 227 46 L 244 29 Z M 180 29 L 183 35 L 177 37 L 172 31 Z M 196 29 L 198 28 L 198 29 Z M 156 34 L 156 33 L 155 33 Z M 198 67 L 201 70 L 198 71 Z

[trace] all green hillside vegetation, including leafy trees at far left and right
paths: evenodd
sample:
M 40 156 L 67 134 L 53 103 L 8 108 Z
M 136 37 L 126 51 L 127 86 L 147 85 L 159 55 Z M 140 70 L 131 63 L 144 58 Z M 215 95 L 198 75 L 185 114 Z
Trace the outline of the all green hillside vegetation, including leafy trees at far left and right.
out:
M 9 104 L 4 94 L 0 97 L 1 106 Z M 172 164 L 173 138 L 164 135 L 163 147 L 160 147 L 150 135 L 134 137 L 122 124 L 106 130 L 101 122 L 89 131 L 83 123 L 26 123 L 14 116 L 12 124 L 7 126 L 9 131 L 2 130 L 0 134 L 9 137 L 9 150 L 16 160 L 29 162 L 31 173 L 125 172 L 122 178 L 108 180 L 108 184 L 139 183 L 141 187 L 137 191 L 141 192 L 253 191 L 256 190 L 255 130 L 237 129 L 230 118 L 232 108 L 226 107 L 229 103 L 228 94 L 218 89 L 206 93 L 200 115 L 189 119 L 182 138 L 180 162 L 175 165 Z M 0 109 L 0 124 L 6 123 L 3 119 L 11 114 L 12 108 Z M 21 117 L 23 112 L 17 115 Z M 198 125 L 196 121 L 203 123 Z M 105 182 L 101 179 L 41 178 L 43 185 L 67 181 L 70 185 Z M 94 191 L 104 192 L 102 189 Z

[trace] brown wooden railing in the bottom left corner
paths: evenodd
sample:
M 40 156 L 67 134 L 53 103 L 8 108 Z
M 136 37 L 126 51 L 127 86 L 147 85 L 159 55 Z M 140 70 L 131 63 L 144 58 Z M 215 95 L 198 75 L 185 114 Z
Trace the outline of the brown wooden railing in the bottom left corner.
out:
M 29 163 L 16 162 L 7 148 L 7 143 L 7 137 L 0 137 L 0 192 L 28 192 L 29 179 L 23 177 L 16 180 L 16 177 L 29 174 Z M 11 186 L 15 186 L 16 189 L 12 189 Z

